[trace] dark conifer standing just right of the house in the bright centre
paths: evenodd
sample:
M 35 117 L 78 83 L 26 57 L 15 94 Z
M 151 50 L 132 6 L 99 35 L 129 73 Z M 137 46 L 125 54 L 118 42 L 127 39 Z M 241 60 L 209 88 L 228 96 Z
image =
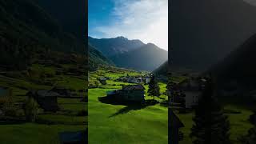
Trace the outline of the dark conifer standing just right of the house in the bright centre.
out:
M 150 96 L 153 98 L 160 96 L 160 87 L 158 85 L 158 82 L 154 78 L 154 74 L 151 74 L 151 79 L 149 83 L 149 90 L 147 91 Z

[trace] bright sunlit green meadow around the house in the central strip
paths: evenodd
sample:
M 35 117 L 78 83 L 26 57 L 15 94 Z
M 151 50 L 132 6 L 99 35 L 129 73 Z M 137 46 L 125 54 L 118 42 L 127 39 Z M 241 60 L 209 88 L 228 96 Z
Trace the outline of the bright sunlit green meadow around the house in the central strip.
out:
M 139 75 L 126 70 L 100 70 L 90 74 L 90 80 L 98 75 L 112 79 L 107 81 L 106 86 L 89 90 L 89 143 L 168 143 L 166 107 L 157 104 L 134 109 L 130 106 L 110 105 L 98 101 L 98 97 L 106 96 L 106 91 L 121 89 L 120 84 L 128 84 L 113 81 L 114 78 L 126 74 Z M 164 92 L 166 84 L 160 83 L 160 86 L 161 92 Z M 147 86 L 145 87 L 147 89 Z M 146 96 L 146 99 L 152 98 Z

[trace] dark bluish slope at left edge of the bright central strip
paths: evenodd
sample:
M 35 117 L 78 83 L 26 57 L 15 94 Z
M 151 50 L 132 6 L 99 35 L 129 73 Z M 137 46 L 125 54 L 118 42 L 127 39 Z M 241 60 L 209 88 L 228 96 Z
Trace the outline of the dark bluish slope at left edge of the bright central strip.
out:
M 112 62 L 109 58 L 106 58 L 102 52 L 98 51 L 96 48 L 94 48 L 94 46 L 90 46 L 90 44 L 88 44 L 88 50 L 90 70 L 93 70 L 95 67 L 100 65 L 114 66 L 114 62 Z

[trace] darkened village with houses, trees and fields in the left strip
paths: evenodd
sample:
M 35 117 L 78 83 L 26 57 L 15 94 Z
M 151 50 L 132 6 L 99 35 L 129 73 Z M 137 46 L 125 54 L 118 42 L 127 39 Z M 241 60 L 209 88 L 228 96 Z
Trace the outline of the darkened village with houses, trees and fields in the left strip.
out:
M 26 129 L 32 125 L 39 129 L 50 125 L 52 127 L 41 132 L 46 137 L 42 142 L 85 142 L 87 91 L 81 71 L 71 65 L 47 66 L 46 62 L 27 71 L 3 71 L 0 74 L 0 126 L 8 128 L 18 124 Z M 22 76 L 16 76 L 19 73 Z M 70 83 L 76 84 L 70 86 Z M 34 136 L 34 141 L 37 142 L 38 137 Z

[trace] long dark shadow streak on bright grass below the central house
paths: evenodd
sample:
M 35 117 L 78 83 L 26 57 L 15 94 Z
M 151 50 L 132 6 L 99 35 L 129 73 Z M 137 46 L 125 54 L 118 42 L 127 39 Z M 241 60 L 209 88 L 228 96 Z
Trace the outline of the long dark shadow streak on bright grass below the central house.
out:
M 142 109 L 146 108 L 147 106 L 154 106 L 157 103 L 159 103 L 159 102 L 156 100 L 150 99 L 150 100 L 146 100 L 143 103 L 134 103 L 134 104 L 126 105 L 126 107 L 122 108 L 121 110 L 118 110 L 118 112 L 116 112 L 115 114 L 110 115 L 109 118 L 115 117 L 119 114 L 126 114 L 130 110 L 142 110 Z

